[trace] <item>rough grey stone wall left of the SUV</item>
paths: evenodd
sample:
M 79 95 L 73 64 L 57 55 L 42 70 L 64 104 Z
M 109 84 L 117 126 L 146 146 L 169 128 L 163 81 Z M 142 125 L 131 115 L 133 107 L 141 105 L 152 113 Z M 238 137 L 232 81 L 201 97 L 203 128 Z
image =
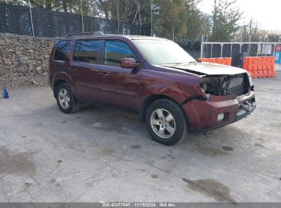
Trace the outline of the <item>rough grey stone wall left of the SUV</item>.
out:
M 55 38 L 0 34 L 0 77 L 46 76 Z

